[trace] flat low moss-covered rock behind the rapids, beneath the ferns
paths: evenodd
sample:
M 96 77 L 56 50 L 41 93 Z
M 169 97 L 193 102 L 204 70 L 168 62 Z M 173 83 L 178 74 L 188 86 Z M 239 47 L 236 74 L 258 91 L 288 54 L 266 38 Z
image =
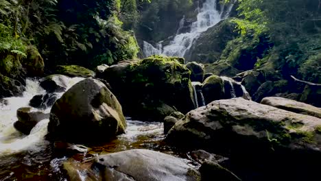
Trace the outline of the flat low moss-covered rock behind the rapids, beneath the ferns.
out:
M 78 65 L 58 65 L 56 74 L 67 75 L 69 77 L 95 77 L 95 72 Z

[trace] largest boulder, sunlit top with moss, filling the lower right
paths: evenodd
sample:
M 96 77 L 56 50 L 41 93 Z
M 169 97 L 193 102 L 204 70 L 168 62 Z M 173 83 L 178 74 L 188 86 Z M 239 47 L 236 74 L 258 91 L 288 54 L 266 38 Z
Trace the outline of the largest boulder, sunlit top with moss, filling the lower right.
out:
M 169 130 L 166 139 L 228 154 L 239 167 L 255 170 L 254 180 L 276 176 L 309 180 L 318 175 L 320 128 L 321 119 L 316 117 L 235 98 L 192 110 Z

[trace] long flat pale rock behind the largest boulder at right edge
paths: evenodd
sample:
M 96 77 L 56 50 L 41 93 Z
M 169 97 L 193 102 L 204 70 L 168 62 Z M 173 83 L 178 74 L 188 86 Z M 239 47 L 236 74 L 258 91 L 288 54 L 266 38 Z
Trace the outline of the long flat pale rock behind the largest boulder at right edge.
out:
M 304 104 L 299 101 L 285 99 L 282 97 L 265 97 L 261 104 L 266 104 L 283 110 L 289 110 L 299 114 L 307 114 L 313 117 L 321 118 L 321 108 L 316 108 L 309 104 Z

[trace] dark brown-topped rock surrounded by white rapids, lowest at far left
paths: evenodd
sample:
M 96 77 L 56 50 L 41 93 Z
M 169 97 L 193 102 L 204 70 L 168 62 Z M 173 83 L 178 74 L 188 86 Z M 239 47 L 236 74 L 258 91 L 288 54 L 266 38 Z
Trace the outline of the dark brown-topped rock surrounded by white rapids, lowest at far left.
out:
M 16 117 L 18 117 L 18 121 L 14 123 L 14 128 L 23 134 L 30 134 L 32 128 L 39 121 L 49 118 L 49 114 L 26 107 L 19 108 L 16 111 Z

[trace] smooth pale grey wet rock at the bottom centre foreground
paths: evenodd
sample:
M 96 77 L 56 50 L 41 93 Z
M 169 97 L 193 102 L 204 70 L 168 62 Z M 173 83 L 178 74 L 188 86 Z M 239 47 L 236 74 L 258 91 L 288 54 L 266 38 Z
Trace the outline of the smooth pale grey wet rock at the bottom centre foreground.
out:
M 69 178 L 80 180 L 74 164 L 64 163 Z M 88 180 L 200 180 L 198 171 L 180 158 L 147 149 L 132 149 L 97 157 L 87 172 Z M 90 172 L 90 173 L 88 173 Z

